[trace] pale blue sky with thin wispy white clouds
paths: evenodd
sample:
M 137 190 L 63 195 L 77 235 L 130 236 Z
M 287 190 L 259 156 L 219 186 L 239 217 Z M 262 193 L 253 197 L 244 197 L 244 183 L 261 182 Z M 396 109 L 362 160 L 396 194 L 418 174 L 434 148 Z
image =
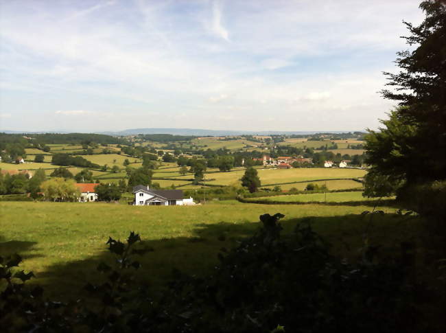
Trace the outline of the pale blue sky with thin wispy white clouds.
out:
M 0 3 L 0 129 L 364 130 L 414 0 Z

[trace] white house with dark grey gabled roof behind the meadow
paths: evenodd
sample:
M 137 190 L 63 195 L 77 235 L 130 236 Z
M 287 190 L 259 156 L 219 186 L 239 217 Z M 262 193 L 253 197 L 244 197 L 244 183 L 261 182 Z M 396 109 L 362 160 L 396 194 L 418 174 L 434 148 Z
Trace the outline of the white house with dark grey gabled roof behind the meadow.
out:
M 184 198 L 182 190 L 150 190 L 148 186 L 133 187 L 134 205 L 183 206 L 195 205 L 192 198 Z

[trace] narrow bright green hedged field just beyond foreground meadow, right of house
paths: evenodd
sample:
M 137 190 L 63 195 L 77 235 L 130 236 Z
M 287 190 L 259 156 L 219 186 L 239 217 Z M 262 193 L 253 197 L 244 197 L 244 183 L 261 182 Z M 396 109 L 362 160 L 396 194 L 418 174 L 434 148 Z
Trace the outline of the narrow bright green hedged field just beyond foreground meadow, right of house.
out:
M 379 200 L 379 198 L 365 198 L 362 192 L 331 192 L 331 193 L 312 193 L 312 194 L 295 194 L 287 196 L 266 196 L 263 198 L 253 198 L 248 200 L 268 200 L 268 201 L 283 201 L 312 203 L 312 202 L 327 202 L 327 203 L 345 203 L 348 201 L 365 201 L 365 200 Z

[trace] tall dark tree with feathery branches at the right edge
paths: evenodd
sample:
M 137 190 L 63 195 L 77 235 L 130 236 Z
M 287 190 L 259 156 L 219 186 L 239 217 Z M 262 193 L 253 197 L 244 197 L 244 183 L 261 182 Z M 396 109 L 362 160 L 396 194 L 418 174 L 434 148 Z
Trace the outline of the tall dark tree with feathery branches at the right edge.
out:
M 397 188 L 445 179 L 446 4 L 423 1 L 425 20 L 406 42 L 412 51 L 397 53 L 398 73 L 384 73 L 390 89 L 383 97 L 399 102 L 378 132 L 366 136 L 371 179 L 387 179 Z

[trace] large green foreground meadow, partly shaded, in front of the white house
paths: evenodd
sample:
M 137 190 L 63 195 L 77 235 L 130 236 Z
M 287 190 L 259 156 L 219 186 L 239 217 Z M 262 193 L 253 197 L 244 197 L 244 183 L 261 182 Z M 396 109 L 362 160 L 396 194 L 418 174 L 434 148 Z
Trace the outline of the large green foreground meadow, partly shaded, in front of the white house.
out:
M 380 207 L 388 213 L 395 209 Z M 344 241 L 359 248 L 364 222 L 358 218 L 370 207 L 349 205 L 256 205 L 235 201 L 209 203 L 194 207 L 134 207 L 106 203 L 0 203 L 0 255 L 18 252 L 23 256 L 21 269 L 33 271 L 35 282 L 43 284 L 54 297 L 77 297 L 89 279 L 102 281 L 95 267 L 109 260 L 108 236 L 126 239 L 129 231 L 140 233 L 145 245 L 152 246 L 141 263 L 137 278 L 148 279 L 150 289 L 169 277 L 176 267 L 187 273 L 202 274 L 217 262 L 224 246 L 235 246 L 240 238 L 250 236 L 259 227 L 259 215 L 285 214 L 284 233 L 296 223 L 313 217 L 312 225 L 322 236 Z M 17 211 L 21 218 L 17 219 Z M 14 221 L 12 223 L 11 221 Z M 417 224 L 403 224 L 391 216 L 375 222 L 371 238 L 382 241 L 401 233 L 414 232 Z M 344 233 L 345 231 L 345 233 Z M 414 232 L 415 233 L 415 232 Z M 32 281 L 33 281 L 32 280 Z M 54 290 L 54 286 L 58 286 Z M 53 289 L 51 289 L 53 288 Z

